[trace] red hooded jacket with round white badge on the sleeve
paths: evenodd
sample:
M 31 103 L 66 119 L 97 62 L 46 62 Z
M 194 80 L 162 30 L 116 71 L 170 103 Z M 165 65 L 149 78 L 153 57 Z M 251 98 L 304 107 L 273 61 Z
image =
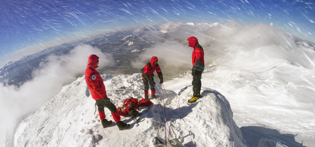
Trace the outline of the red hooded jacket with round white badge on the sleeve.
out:
M 91 91 L 94 100 L 100 100 L 106 97 L 105 85 L 100 74 L 95 70 L 98 66 L 96 64 L 99 57 L 90 55 L 88 65 L 85 70 L 85 81 Z

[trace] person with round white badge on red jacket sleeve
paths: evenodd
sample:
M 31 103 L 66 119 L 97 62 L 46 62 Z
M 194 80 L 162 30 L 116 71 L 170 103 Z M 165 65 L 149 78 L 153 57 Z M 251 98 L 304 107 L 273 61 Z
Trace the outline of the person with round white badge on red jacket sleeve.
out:
M 130 124 L 124 123 L 120 120 L 120 115 L 117 112 L 116 106 L 111 102 L 111 100 L 106 95 L 105 85 L 100 74 L 95 70 L 98 66 L 99 57 L 96 55 L 90 55 L 88 60 L 88 65 L 85 70 L 85 81 L 91 91 L 92 98 L 96 101 L 98 112 L 100 115 L 100 120 L 102 122 L 103 128 L 112 124 L 112 121 L 105 119 L 104 107 L 107 107 L 111 113 L 112 117 L 117 123 L 119 130 L 128 129 Z

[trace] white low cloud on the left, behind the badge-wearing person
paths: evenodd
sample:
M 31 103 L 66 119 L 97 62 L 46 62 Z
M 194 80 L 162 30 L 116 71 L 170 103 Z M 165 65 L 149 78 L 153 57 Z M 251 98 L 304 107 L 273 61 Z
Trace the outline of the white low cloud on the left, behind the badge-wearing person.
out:
M 0 137 L 12 136 L 19 121 L 58 94 L 62 86 L 84 75 L 91 54 L 100 57 L 100 68 L 114 62 L 111 54 L 104 54 L 89 45 L 80 45 L 69 54 L 48 57 L 48 62 L 41 63 L 43 68 L 33 71 L 33 79 L 20 88 L 0 84 Z

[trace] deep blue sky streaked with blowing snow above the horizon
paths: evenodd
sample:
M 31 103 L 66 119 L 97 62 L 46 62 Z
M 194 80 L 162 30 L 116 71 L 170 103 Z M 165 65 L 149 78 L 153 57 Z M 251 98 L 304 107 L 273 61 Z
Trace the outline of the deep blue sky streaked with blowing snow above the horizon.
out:
M 28 46 L 175 20 L 270 24 L 315 42 L 314 0 L 2 0 L 0 10 L 0 60 Z

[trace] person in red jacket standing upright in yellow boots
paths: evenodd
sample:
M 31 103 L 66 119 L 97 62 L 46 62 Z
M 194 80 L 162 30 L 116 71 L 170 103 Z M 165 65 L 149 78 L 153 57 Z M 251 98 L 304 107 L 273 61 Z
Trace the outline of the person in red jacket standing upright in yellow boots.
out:
M 190 47 L 194 48 L 192 51 L 192 91 L 194 92 L 192 98 L 188 103 L 194 103 L 201 97 L 201 74 L 204 71 L 203 48 L 199 45 L 198 39 L 191 36 L 187 39 Z

